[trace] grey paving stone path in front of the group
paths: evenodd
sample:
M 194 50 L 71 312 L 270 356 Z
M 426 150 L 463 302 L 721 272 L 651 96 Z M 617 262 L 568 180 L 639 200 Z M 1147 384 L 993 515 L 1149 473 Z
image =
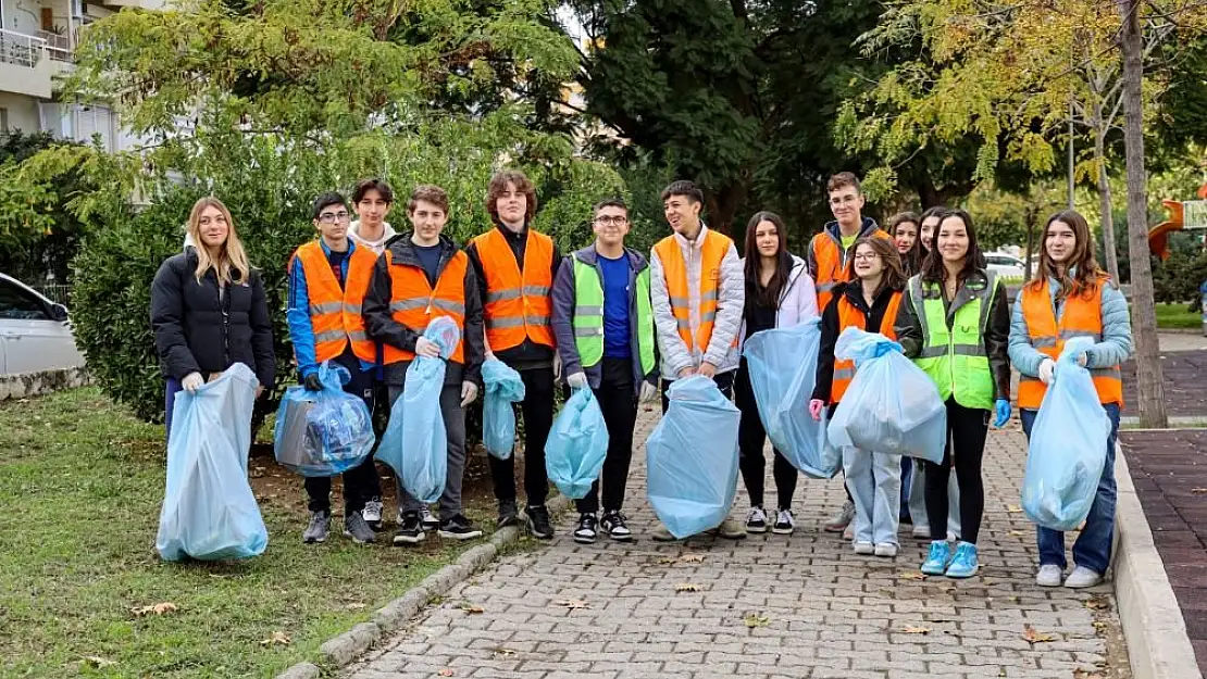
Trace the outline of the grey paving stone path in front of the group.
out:
M 1121 679 L 1109 585 L 1033 584 L 1034 533 L 1018 511 L 1026 444 L 990 435 L 976 578 L 920 578 L 925 543 L 857 556 L 821 531 L 840 481 L 801 479 L 797 532 L 660 544 L 645 498 L 639 420 L 626 498 L 639 542 L 578 545 L 562 517 L 548 546 L 503 558 L 348 668 L 348 679 Z M 770 467 L 770 464 L 768 466 Z M 774 485 L 768 481 L 769 498 Z M 745 513 L 740 496 L 734 510 Z M 678 591 L 690 590 L 690 591 Z M 1038 643 L 1024 638 L 1026 626 Z

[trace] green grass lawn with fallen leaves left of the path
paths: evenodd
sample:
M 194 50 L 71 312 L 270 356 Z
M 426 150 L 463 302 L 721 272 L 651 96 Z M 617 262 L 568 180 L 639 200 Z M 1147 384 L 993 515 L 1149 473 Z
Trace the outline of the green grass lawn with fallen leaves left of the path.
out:
M 260 458 L 268 550 L 165 563 L 162 440 L 95 388 L 0 404 L 0 677 L 272 677 L 460 552 L 352 545 L 338 504 L 331 539 L 303 545 L 301 480 Z

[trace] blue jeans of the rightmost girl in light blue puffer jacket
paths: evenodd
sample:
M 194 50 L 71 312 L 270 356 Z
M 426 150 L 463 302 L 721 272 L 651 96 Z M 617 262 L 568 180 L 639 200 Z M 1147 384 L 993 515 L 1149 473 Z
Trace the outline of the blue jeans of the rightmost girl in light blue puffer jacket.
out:
M 1110 437 L 1107 439 L 1107 463 L 1098 479 L 1098 492 L 1085 517 L 1085 528 L 1073 543 L 1073 563 L 1102 574 L 1110 566 L 1110 546 L 1115 537 L 1115 437 L 1119 435 L 1119 405 L 1102 406 L 1110 417 Z M 1036 423 L 1037 410 L 1020 410 L 1022 431 L 1031 439 L 1031 427 Z M 1039 566 L 1055 564 L 1065 569 L 1065 533 L 1050 528 L 1037 528 L 1039 540 Z

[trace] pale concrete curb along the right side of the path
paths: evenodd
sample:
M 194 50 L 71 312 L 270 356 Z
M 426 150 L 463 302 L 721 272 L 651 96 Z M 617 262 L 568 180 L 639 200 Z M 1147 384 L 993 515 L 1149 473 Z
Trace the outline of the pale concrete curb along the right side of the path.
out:
M 1202 679 L 1127 461 L 1115 450 L 1115 598 L 1133 679 Z

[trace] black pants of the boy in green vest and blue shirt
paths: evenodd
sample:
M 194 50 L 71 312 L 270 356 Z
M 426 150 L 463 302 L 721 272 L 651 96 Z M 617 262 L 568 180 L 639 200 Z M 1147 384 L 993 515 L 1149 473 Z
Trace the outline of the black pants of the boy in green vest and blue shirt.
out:
M 607 425 L 607 457 L 599 481 L 587 497 L 575 503 L 579 514 L 595 514 L 600 508 L 600 484 L 604 485 L 604 511 L 619 511 L 632 462 L 632 429 L 637 423 L 637 396 L 632 384 L 632 359 L 605 358 L 600 388 L 593 390 Z

